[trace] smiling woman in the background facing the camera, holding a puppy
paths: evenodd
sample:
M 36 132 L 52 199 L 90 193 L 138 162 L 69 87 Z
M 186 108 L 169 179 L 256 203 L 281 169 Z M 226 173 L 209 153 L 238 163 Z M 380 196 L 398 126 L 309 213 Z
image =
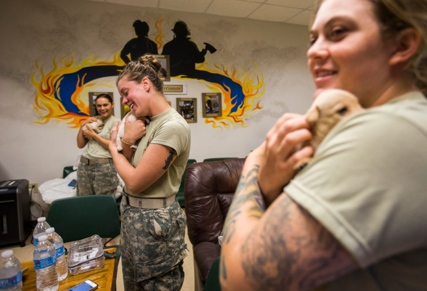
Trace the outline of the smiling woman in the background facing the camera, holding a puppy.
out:
M 83 121 L 77 134 L 79 149 L 86 147 L 77 168 L 77 196 L 105 194 L 113 195 L 119 185 L 116 168 L 111 159 L 108 144 L 111 130 L 118 121 L 113 116 L 114 102 L 110 95 L 99 94 L 95 99 L 104 127 L 99 134 L 85 125 L 97 118 L 90 117 Z

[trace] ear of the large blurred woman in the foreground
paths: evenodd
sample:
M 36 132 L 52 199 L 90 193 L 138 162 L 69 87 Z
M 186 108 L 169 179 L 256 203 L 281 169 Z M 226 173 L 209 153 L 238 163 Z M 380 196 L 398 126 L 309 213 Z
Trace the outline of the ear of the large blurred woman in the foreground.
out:
M 396 37 L 396 50 L 389 60 L 390 65 L 404 64 L 417 53 L 421 35 L 415 28 L 407 28 Z

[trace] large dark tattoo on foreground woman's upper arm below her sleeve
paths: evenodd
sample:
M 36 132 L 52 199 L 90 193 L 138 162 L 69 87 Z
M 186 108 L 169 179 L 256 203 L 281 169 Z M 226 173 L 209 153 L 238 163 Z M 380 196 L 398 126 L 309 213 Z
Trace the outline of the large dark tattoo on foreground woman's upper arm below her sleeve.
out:
M 254 289 L 310 290 L 357 267 L 330 232 L 288 196 L 267 215 L 269 223 L 253 229 L 241 247 Z

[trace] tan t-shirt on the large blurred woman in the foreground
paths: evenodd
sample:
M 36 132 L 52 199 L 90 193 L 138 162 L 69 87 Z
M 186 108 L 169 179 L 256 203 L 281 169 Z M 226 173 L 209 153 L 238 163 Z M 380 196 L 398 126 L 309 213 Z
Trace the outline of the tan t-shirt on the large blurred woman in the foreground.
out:
M 320 290 L 427 290 L 426 173 L 419 92 L 332 129 L 284 188 L 361 266 Z

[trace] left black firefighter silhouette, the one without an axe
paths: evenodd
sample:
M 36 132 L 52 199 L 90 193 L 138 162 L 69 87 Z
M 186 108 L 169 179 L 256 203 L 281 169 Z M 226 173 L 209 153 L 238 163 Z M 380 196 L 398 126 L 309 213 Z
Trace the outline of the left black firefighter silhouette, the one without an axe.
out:
M 131 60 L 135 61 L 146 53 L 158 54 L 157 45 L 148 38 L 149 26 L 145 21 L 137 20 L 133 23 L 137 38 L 128 41 L 120 53 L 120 57 L 127 64 Z M 129 59 L 129 54 L 131 55 Z

